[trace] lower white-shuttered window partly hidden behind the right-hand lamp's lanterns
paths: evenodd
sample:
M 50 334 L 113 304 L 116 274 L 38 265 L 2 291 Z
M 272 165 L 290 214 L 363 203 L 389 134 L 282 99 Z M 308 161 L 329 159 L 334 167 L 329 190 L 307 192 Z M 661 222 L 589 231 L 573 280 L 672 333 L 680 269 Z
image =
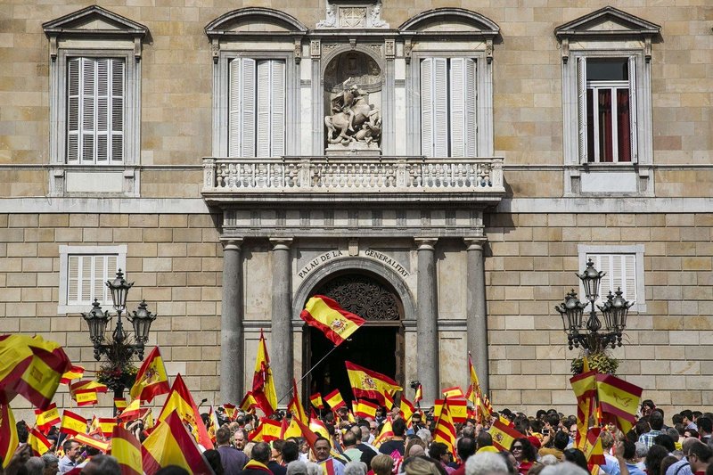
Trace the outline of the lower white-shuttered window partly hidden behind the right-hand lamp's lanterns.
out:
M 605 272 L 599 287 L 597 305 L 607 299 L 609 292 L 621 289 L 625 299 L 635 302 L 632 310 L 646 311 L 643 295 L 643 246 L 585 246 L 580 245 L 579 270 L 591 258 L 594 268 Z

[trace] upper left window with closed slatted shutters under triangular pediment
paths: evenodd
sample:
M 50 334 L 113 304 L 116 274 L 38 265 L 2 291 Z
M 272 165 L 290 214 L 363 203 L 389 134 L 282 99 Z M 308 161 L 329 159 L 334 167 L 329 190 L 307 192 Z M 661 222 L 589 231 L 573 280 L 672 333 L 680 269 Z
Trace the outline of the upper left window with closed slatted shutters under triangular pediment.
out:
M 123 58 L 71 58 L 67 62 L 67 163 L 121 163 Z

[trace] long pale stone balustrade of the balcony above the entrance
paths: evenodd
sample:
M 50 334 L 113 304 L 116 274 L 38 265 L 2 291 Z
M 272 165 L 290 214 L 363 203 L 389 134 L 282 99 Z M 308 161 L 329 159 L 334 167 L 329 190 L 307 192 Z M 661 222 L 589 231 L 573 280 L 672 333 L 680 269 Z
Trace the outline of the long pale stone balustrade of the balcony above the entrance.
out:
M 504 193 L 503 159 L 206 158 L 203 193 Z

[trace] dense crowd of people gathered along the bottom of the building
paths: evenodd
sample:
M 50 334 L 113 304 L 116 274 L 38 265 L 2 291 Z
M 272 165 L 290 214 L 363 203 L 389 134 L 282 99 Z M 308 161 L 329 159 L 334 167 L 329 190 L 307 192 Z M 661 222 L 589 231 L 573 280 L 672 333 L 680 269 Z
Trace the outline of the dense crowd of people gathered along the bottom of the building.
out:
M 713 475 L 713 414 L 684 410 L 667 419 L 651 400 L 643 401 L 638 421 L 626 434 L 613 425 L 602 428 L 604 463 L 595 466 L 575 447 L 576 417 L 553 409 L 534 416 L 508 409 L 494 414 L 522 434 L 509 446 L 494 442 L 488 422 L 456 424 L 455 454 L 434 441 L 431 413 L 416 412 L 410 421 L 398 413 L 397 407 L 390 413 L 381 407 L 375 417 L 355 420 L 346 407 L 326 412 L 320 418 L 329 437 L 320 435 L 308 444 L 305 438 L 251 440 L 257 416 L 238 412 L 229 420 L 218 412 L 215 448 L 203 456 L 217 475 Z M 291 414 L 273 417 L 281 416 Z M 392 435 L 381 440 L 387 420 Z M 121 473 L 113 457 L 73 438 L 42 457 L 30 457 L 23 426 L 18 422 L 20 447 L 5 469 L 8 474 Z M 140 429 L 137 433 L 142 435 Z M 47 436 L 56 443 L 54 430 Z M 157 473 L 187 471 L 169 466 Z

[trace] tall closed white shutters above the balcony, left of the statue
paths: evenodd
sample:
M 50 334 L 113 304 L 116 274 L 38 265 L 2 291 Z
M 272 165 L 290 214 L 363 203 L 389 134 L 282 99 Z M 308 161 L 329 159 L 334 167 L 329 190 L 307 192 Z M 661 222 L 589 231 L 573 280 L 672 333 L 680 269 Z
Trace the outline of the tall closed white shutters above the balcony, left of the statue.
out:
M 285 143 L 285 63 L 230 60 L 228 153 L 231 157 L 279 157 Z

